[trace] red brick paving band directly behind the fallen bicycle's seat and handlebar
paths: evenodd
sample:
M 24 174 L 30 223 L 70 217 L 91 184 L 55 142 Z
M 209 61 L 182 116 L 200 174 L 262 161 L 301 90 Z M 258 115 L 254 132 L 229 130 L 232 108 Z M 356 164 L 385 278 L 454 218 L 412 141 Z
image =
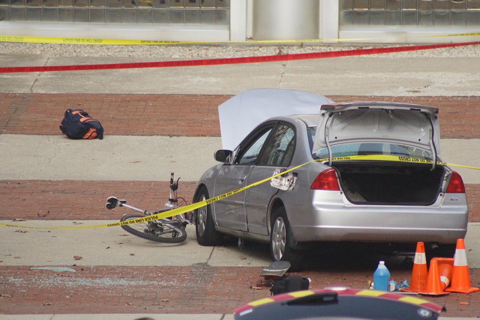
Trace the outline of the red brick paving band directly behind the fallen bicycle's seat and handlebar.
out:
M 195 181 L 179 181 L 178 196 L 191 202 Z M 469 222 L 480 222 L 480 184 L 465 184 Z M 153 210 L 168 199 L 166 181 L 0 180 L 0 219 L 118 219 L 105 208 L 110 195 Z M 46 217 L 39 217 L 48 212 Z

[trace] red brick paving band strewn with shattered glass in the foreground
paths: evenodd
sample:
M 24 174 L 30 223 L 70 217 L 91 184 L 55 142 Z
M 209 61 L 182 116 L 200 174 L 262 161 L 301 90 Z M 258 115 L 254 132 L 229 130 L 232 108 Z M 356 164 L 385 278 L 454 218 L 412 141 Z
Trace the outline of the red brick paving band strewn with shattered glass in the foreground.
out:
M 327 257 L 328 258 L 328 257 Z M 329 257 L 332 258 L 332 257 Z M 0 314 L 43 313 L 231 313 L 246 302 L 269 295 L 257 288 L 259 267 L 69 266 L 71 271 L 0 266 Z M 366 288 L 374 267 L 334 265 L 295 273 L 310 277 L 311 288 L 347 285 Z M 408 279 L 411 268 L 390 268 L 395 280 Z M 480 272 L 471 272 L 472 285 Z M 446 307 L 445 316 L 480 314 L 478 292 L 428 296 Z

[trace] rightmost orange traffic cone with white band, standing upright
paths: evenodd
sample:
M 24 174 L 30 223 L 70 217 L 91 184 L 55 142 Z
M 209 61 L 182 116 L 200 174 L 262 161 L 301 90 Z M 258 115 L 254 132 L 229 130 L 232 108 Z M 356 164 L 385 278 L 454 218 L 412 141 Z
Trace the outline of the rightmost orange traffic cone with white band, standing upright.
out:
M 455 255 L 453 256 L 453 270 L 451 273 L 451 285 L 445 289 L 448 292 L 471 293 L 480 291 L 480 288 L 472 287 L 470 273 L 466 262 L 465 243 L 463 239 L 456 240 Z

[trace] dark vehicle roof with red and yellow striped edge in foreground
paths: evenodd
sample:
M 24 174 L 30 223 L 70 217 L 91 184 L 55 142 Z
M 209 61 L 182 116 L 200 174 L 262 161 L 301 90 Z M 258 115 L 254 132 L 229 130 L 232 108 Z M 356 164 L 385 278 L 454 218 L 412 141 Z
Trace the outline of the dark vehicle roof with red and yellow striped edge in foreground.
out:
M 359 289 L 296 291 L 266 297 L 238 307 L 235 319 L 303 319 L 348 317 L 364 319 L 436 319 L 443 308 L 398 293 Z

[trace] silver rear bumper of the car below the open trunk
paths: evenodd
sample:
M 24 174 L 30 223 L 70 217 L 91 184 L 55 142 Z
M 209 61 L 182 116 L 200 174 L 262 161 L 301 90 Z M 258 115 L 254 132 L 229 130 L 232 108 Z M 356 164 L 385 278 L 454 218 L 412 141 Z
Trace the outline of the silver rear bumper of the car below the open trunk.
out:
M 332 193 L 315 196 L 312 212 L 290 218 L 296 241 L 455 243 L 466 234 L 464 194 L 445 194 L 432 205 L 416 206 L 353 205 L 340 192 L 336 199 Z

